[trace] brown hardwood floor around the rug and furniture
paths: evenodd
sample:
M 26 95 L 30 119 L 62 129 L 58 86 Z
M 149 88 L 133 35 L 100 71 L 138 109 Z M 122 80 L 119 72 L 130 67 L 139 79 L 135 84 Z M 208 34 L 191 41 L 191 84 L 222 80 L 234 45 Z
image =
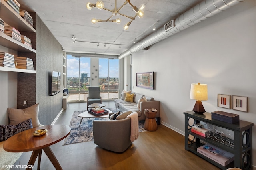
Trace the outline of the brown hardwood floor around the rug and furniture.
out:
M 104 103 L 106 108 L 114 102 Z M 70 103 L 56 124 L 69 125 L 74 111 L 86 110 L 86 103 Z M 113 139 L 115 140 L 115 139 Z M 125 152 L 118 154 L 98 147 L 94 141 L 50 146 L 64 170 L 218 170 L 216 166 L 184 149 L 184 136 L 158 125 L 154 132 L 141 132 Z M 36 169 L 36 165 L 33 169 Z M 41 170 L 54 170 L 42 153 Z

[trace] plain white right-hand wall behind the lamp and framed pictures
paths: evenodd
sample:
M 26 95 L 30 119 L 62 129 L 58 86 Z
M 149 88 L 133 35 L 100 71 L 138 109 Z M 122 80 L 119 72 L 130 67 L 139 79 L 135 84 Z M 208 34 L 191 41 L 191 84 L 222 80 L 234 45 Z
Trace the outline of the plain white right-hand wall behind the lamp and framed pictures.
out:
M 240 4 L 132 56 L 132 90 L 160 101 L 164 125 L 184 134 L 193 109 L 191 83 L 208 84 L 207 112 L 226 111 L 256 123 L 256 0 Z M 155 72 L 155 90 L 136 87 L 138 72 Z M 217 94 L 248 97 L 248 112 L 217 107 Z M 256 125 L 253 126 L 256 165 Z

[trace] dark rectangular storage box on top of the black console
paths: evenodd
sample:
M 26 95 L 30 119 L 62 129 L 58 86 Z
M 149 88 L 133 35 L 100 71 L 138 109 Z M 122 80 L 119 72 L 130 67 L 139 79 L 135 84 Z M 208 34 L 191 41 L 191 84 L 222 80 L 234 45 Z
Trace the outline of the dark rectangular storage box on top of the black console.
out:
M 227 123 L 237 123 L 239 122 L 239 115 L 223 111 L 214 111 L 212 112 L 212 119 Z

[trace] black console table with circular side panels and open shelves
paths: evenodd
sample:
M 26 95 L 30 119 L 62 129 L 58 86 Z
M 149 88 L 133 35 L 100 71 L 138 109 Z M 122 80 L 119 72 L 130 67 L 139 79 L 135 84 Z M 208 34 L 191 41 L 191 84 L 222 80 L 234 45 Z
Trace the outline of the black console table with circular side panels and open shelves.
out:
M 237 167 L 241 169 L 252 169 L 252 126 L 253 123 L 240 120 L 238 123 L 226 123 L 212 119 L 211 113 L 205 112 L 202 115 L 194 111 L 186 111 L 185 115 L 185 149 L 204 158 L 208 162 L 221 169 Z M 193 123 L 190 125 L 190 119 Z M 191 127 L 200 123 L 209 123 L 217 127 L 226 128 L 234 131 L 234 146 L 228 146 L 223 142 L 218 142 L 208 137 L 203 137 L 191 132 Z M 192 138 L 192 139 L 191 139 Z M 222 166 L 210 158 L 197 152 L 197 148 L 204 144 L 212 144 L 218 148 L 234 154 L 234 161 L 227 166 Z

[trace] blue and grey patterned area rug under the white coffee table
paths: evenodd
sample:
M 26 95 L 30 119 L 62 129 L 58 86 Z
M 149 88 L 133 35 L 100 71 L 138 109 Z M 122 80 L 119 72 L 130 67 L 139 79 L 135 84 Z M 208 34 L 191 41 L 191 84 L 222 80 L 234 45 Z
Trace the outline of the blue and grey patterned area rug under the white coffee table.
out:
M 118 109 L 109 108 L 113 113 L 117 112 Z M 84 118 L 80 127 L 79 123 L 81 117 L 78 117 L 80 113 L 84 111 L 74 111 L 72 119 L 70 121 L 71 132 L 68 137 L 65 138 L 64 144 L 74 144 L 79 142 L 88 142 L 93 140 L 92 132 L 92 121 L 94 120 L 108 120 L 108 118 Z M 144 121 L 139 121 L 139 132 L 146 132 L 144 129 Z

